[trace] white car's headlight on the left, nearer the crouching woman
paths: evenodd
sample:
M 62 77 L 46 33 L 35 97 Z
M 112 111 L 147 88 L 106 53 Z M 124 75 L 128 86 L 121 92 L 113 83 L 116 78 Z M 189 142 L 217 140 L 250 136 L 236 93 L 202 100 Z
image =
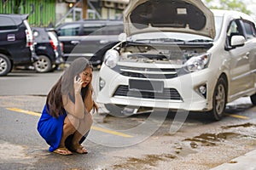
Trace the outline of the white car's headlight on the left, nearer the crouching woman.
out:
M 113 68 L 117 65 L 119 61 L 119 52 L 114 49 L 109 49 L 105 54 L 105 64 Z

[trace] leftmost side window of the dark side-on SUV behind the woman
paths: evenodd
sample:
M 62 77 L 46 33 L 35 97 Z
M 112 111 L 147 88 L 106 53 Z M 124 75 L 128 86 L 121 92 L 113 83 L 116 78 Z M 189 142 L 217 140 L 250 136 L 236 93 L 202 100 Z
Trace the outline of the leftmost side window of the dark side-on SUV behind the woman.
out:
M 80 24 L 72 24 L 61 27 L 59 36 L 79 36 Z

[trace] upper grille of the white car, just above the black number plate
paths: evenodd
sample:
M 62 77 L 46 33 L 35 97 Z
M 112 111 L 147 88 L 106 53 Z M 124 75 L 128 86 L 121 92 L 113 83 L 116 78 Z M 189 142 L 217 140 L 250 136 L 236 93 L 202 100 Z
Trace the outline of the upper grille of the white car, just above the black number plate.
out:
M 176 69 L 169 68 L 140 68 L 119 66 L 119 73 L 125 77 L 170 79 L 177 77 Z

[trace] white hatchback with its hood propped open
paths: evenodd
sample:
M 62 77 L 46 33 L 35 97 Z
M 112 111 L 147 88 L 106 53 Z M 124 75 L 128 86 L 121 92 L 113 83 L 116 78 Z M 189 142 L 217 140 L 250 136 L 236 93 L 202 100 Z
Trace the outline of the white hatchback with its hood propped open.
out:
M 235 99 L 256 105 L 256 30 L 247 14 L 199 0 L 134 0 L 124 21 L 126 40 L 108 50 L 99 74 L 97 102 L 110 112 L 202 111 L 220 120 Z

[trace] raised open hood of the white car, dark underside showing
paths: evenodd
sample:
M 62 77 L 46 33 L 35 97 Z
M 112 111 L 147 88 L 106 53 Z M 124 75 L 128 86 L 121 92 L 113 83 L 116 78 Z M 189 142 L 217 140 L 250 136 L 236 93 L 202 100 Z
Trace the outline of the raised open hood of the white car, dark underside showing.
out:
M 213 14 L 201 0 L 130 0 L 124 23 L 128 37 L 151 31 L 215 37 Z

